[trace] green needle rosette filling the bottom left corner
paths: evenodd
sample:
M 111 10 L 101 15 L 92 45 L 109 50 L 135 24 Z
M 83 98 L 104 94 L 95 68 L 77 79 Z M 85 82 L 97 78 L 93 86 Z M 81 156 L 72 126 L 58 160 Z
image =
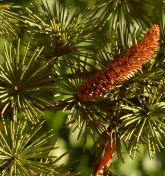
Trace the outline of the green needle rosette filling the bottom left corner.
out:
M 31 126 L 25 120 L 20 120 L 18 123 L 12 122 L 9 119 L 2 118 L 4 131 L 0 132 L 0 171 L 3 175 L 19 175 L 30 176 L 33 174 L 41 175 L 70 175 L 60 173 L 60 169 L 64 166 L 56 166 L 60 158 L 49 155 L 52 150 L 56 149 L 55 142 L 48 143 L 48 138 L 53 136 L 52 130 L 40 136 L 36 140 L 32 140 L 33 136 L 42 127 L 43 121 L 37 125 Z M 51 159 L 55 158 L 52 163 Z M 40 159 L 42 159 L 40 161 Z M 45 159 L 45 161 L 44 161 Z M 76 173 L 75 173 L 76 174 Z

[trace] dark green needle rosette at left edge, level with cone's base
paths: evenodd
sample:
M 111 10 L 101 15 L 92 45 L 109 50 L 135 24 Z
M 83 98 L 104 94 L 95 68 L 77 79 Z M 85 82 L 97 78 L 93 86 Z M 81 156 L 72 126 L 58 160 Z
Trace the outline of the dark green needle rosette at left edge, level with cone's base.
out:
M 21 113 L 36 123 L 35 117 L 43 115 L 40 109 L 53 106 L 54 101 L 51 100 L 50 93 L 57 87 L 51 83 L 54 80 L 52 69 L 46 69 L 50 60 L 45 63 L 37 60 L 42 48 L 36 49 L 27 60 L 28 47 L 29 45 L 21 54 L 20 41 L 16 49 L 12 46 L 7 49 L 5 45 L 6 66 L 0 66 L 0 108 L 1 115 L 11 109 L 14 121 L 17 121 L 17 113 Z

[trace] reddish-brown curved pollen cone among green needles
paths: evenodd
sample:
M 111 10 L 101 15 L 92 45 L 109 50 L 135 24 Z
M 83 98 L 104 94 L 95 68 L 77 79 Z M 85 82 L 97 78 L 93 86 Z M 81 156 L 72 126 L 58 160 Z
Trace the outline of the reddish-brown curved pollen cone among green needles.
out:
M 142 40 L 130 47 L 128 52 L 110 62 L 107 67 L 99 70 L 93 77 L 83 82 L 77 89 L 77 96 L 82 101 L 99 98 L 103 93 L 122 84 L 131 77 L 150 58 L 158 47 L 160 30 L 158 25 L 153 25 Z

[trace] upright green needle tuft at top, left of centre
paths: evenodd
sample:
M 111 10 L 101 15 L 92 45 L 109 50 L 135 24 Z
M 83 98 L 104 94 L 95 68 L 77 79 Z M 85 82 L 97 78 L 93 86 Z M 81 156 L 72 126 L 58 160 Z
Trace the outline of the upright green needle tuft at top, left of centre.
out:
M 68 2 L 68 7 L 65 2 L 56 1 L 53 11 L 47 1 L 40 1 L 41 10 L 33 4 L 31 8 L 26 8 L 25 15 L 28 18 L 25 23 L 33 28 L 33 33 L 27 31 L 27 40 L 31 40 L 29 47 L 32 51 L 46 43 L 42 54 L 49 59 L 77 52 L 83 54 L 94 49 L 94 43 L 101 43 L 97 38 L 101 25 L 98 23 L 99 16 L 95 6 L 79 7 L 72 13 L 71 2 Z

